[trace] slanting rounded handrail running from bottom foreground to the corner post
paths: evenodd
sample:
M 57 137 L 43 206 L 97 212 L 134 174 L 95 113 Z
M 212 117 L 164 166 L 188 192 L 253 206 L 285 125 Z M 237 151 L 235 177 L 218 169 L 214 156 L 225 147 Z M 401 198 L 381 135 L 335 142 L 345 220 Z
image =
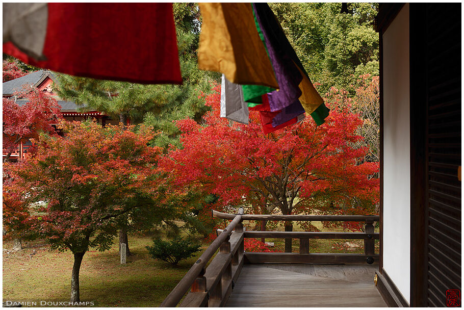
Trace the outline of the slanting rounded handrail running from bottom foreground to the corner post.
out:
M 182 299 L 184 294 L 190 289 L 192 283 L 196 277 L 200 274 L 206 264 L 210 261 L 211 257 L 216 253 L 221 244 L 232 234 L 235 226 L 242 221 L 240 214 L 233 215 L 233 221 L 231 221 L 223 232 L 211 243 L 211 245 L 201 254 L 199 259 L 193 264 L 186 275 L 177 283 L 175 288 L 169 293 L 169 295 L 161 303 L 161 307 L 175 307 L 177 303 Z

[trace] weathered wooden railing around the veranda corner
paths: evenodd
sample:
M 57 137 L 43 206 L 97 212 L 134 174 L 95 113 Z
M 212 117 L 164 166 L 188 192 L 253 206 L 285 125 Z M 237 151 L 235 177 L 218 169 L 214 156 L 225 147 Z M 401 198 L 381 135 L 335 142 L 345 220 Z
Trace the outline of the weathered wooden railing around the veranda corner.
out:
M 254 263 L 290 263 L 290 264 L 378 264 L 375 254 L 374 221 L 379 216 L 364 215 L 253 215 L 228 214 L 214 211 L 213 217 L 232 220 L 225 229 L 218 229 L 218 237 L 204 251 L 182 280 L 161 304 L 162 307 L 174 307 L 184 297 L 183 307 L 223 306 L 234 288 L 242 266 Z M 321 233 L 308 231 L 244 231 L 243 220 L 276 221 L 333 221 L 365 222 L 364 233 Z M 235 230 L 234 230 L 235 229 Z M 244 252 L 244 238 L 282 238 L 299 239 L 299 253 L 254 253 Z M 364 239 L 364 254 L 347 253 L 309 253 L 310 239 Z M 208 268 L 205 266 L 219 249 Z

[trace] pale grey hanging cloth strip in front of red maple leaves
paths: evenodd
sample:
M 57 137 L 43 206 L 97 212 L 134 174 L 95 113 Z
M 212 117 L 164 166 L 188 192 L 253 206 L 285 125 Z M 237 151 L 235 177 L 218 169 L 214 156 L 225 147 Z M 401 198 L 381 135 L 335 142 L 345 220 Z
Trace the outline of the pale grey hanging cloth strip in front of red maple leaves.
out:
M 221 81 L 221 117 L 248 124 L 248 105 L 243 100 L 242 87 L 230 83 L 222 74 Z

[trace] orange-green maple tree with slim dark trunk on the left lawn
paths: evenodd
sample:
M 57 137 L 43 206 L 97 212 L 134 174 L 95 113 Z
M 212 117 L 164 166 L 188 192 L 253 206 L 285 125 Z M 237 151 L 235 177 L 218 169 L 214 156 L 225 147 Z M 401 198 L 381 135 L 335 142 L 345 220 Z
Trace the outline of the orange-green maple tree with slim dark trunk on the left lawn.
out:
M 4 208 L 23 226 L 16 220 L 4 224 L 73 253 L 71 302 L 77 302 L 84 254 L 108 249 L 126 217 L 162 217 L 156 199 L 163 182 L 156 173 L 160 148 L 148 146 L 150 128 L 142 125 L 135 132 L 134 126 L 94 122 L 62 127 L 64 137 L 41 135 L 35 156 L 6 164 L 13 182 L 4 188 Z M 8 204 L 12 199 L 21 201 L 21 208 Z

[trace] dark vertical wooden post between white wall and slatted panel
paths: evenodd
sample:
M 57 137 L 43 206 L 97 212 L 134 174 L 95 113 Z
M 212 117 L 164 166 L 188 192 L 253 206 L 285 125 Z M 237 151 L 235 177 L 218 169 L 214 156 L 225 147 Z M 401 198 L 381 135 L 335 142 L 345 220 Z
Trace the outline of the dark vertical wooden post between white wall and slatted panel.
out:
M 409 4 L 410 303 L 413 307 L 427 306 L 426 15 L 425 4 Z

